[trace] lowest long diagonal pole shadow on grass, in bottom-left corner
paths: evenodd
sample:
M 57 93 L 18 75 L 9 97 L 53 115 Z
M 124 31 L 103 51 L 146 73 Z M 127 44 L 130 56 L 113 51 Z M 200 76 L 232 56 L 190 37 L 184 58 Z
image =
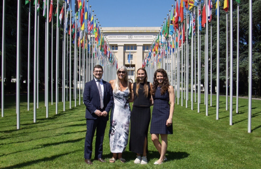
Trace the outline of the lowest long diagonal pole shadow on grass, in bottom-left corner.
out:
M 78 151 L 78 150 L 77 150 Z M 32 160 L 32 161 L 28 161 L 28 162 L 24 162 L 24 163 L 21 163 L 21 164 L 16 164 L 16 165 L 13 165 L 13 166 L 9 166 L 9 167 L 4 167 L 4 169 L 11 169 L 11 168 L 21 168 L 21 167 L 25 167 L 25 166 L 30 166 L 30 165 L 33 165 L 33 164 L 37 164 L 39 162 L 46 162 L 46 161 L 52 161 L 58 157 L 61 157 L 61 156 L 64 156 L 64 155 L 68 155 L 70 153 L 75 153 L 75 151 L 70 151 L 68 153 L 63 153 L 63 154 L 58 154 L 58 155 L 53 155 L 51 157 L 44 157 L 42 159 L 37 159 L 37 160 Z M 29 167 L 30 168 L 30 167 Z

